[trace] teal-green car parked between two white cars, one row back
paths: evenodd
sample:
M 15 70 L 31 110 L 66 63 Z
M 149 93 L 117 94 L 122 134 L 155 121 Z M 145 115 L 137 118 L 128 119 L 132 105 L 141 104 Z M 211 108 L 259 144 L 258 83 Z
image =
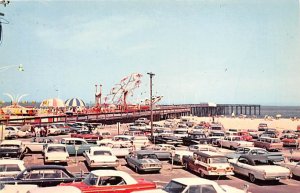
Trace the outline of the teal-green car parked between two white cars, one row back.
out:
M 96 146 L 81 138 L 63 138 L 60 143 L 66 146 L 69 155 L 83 155 L 90 147 Z

